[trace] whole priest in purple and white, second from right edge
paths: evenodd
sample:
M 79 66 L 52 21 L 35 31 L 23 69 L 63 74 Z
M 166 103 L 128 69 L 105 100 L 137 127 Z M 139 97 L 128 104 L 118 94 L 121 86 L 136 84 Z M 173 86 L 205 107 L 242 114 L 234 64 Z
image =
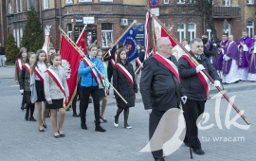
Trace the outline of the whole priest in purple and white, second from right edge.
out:
M 248 77 L 248 65 L 249 65 L 249 51 L 253 47 L 254 41 L 251 39 L 247 30 L 243 31 L 243 37 L 237 42 L 239 47 L 239 77 L 240 80 L 247 80 Z

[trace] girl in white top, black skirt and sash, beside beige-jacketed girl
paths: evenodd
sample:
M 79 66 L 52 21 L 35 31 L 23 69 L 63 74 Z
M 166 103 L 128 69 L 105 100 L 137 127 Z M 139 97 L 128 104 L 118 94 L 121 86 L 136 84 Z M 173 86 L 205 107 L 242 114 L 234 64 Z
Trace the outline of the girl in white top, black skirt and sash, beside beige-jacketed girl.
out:
M 46 96 L 44 91 L 44 79 L 45 73 L 47 69 L 46 62 L 46 52 L 42 49 L 37 50 L 36 59 L 31 68 L 31 78 L 30 78 L 30 86 L 35 90 L 31 90 L 32 98 L 31 101 L 34 103 L 37 108 L 36 116 L 39 124 L 39 131 L 45 132 L 44 127 L 47 128 L 46 125 L 46 115 L 49 112 L 48 109 L 44 110 L 44 114 L 42 117 L 42 102 L 46 102 Z M 33 86 L 34 85 L 34 86 Z

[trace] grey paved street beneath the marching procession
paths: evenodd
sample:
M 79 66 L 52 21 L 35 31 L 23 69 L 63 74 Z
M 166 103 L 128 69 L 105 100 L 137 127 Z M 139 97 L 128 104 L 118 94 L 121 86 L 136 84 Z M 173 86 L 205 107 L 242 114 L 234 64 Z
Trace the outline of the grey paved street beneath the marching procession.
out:
M 38 131 L 37 122 L 24 119 L 25 111 L 21 111 L 22 96 L 13 78 L 5 77 L 10 74 L 11 67 L 0 68 L 0 160 L 1 161 L 30 161 L 30 160 L 83 160 L 83 161 L 151 161 L 150 152 L 139 152 L 148 142 L 148 114 L 143 110 L 141 96 L 137 94 L 136 107 L 131 108 L 128 123 L 133 129 L 123 128 L 123 116 L 119 117 L 119 128 L 113 125 L 117 110 L 115 99 L 109 96 L 106 109 L 107 123 L 102 123 L 106 133 L 94 131 L 93 106 L 87 110 L 88 130 L 80 127 L 80 118 L 73 117 L 72 111 L 66 112 L 64 120 L 64 138 L 54 138 L 49 118 L 46 118 L 45 133 Z M 6 74 L 8 76 L 8 74 Z M 9 79 L 8 79 L 9 78 Z M 254 161 L 256 160 L 256 108 L 255 82 L 239 82 L 234 88 L 227 85 L 228 96 L 236 96 L 234 103 L 240 110 L 245 110 L 245 116 L 251 122 L 247 130 L 225 124 L 228 103 L 221 98 L 220 121 L 215 119 L 215 99 L 209 99 L 205 112 L 210 114 L 209 120 L 201 124 L 203 127 L 214 124 L 208 130 L 200 130 L 199 136 L 205 155 L 193 153 L 195 161 Z M 210 87 L 210 96 L 215 93 Z M 111 91 L 112 92 L 112 91 Z M 229 114 L 229 113 L 228 113 Z M 232 109 L 229 120 L 236 115 Z M 35 116 L 35 114 L 34 114 Z M 242 118 L 238 124 L 246 125 Z M 218 123 L 218 125 L 217 125 Z M 222 125 L 223 129 L 219 129 Z M 222 137 L 222 138 L 221 138 Z M 176 152 L 166 157 L 167 161 L 191 160 L 189 148 L 182 145 Z

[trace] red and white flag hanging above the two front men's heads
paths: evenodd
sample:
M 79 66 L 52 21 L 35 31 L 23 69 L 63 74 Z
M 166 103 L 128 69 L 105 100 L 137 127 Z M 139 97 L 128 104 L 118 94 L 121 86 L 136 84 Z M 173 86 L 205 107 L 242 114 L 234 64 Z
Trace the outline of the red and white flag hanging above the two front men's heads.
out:
M 183 55 L 185 53 L 185 51 L 179 46 L 177 45 L 173 38 L 171 38 L 168 33 L 166 32 L 166 30 L 155 20 L 155 18 L 153 17 L 154 20 L 154 29 L 155 29 L 155 40 L 159 39 L 160 37 L 168 37 L 172 43 L 173 46 L 173 55 L 176 57 L 176 59 L 178 60 L 180 58 L 181 55 Z

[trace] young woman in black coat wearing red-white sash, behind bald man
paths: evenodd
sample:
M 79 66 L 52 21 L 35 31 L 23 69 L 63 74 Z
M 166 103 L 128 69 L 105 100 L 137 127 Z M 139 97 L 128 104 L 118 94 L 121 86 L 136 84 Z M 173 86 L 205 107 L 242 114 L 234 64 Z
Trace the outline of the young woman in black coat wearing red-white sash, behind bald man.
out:
M 137 82 L 135 80 L 133 65 L 127 62 L 126 50 L 124 48 L 119 48 L 118 50 L 117 63 L 113 69 L 113 85 L 119 91 L 121 97 L 128 102 L 126 104 L 119 95 L 114 92 L 119 107 L 117 115 L 115 116 L 114 125 L 115 127 L 119 127 L 119 115 L 124 111 L 124 128 L 131 129 L 132 127 L 128 125 L 127 120 L 129 108 L 135 106 Z

